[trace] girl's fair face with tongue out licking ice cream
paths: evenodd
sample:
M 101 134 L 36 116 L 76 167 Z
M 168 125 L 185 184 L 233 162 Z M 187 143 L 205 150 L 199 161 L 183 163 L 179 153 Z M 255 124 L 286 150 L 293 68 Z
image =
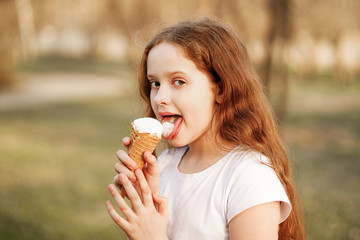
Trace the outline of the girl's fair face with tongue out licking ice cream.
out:
M 162 123 L 174 126 L 167 139 L 174 147 L 213 137 L 216 84 L 186 58 L 179 47 L 162 42 L 147 61 L 151 107 Z

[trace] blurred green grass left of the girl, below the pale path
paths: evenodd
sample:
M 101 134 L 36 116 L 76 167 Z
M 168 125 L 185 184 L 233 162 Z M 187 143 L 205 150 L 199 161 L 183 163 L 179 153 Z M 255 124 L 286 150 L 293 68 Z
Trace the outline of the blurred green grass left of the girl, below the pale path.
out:
M 0 113 L 2 239 L 123 236 L 105 201 L 121 139 L 141 115 L 131 102 L 108 99 Z

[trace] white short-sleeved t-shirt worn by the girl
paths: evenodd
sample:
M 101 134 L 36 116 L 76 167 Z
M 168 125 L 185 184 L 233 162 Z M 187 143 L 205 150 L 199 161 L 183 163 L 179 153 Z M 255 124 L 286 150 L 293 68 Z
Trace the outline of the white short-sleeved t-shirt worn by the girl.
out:
M 171 240 L 228 239 L 228 223 L 242 211 L 262 203 L 281 202 L 283 222 L 291 206 L 268 158 L 236 147 L 209 168 L 179 172 L 187 147 L 165 150 L 158 158 L 160 194 L 168 198 Z M 261 163 L 262 162 L 262 163 Z

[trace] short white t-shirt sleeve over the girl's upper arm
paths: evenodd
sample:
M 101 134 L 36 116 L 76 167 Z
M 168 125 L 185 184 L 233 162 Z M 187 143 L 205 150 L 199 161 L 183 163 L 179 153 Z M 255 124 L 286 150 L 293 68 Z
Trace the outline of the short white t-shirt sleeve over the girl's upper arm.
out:
M 236 168 L 229 182 L 227 199 L 227 222 L 237 214 L 253 206 L 279 201 L 280 223 L 291 211 L 285 189 L 275 171 L 254 159 Z

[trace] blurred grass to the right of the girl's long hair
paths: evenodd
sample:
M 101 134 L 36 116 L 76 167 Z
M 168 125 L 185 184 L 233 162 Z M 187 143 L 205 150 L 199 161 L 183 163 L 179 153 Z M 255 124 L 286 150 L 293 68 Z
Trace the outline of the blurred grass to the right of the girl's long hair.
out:
M 320 79 L 292 88 L 283 132 L 295 159 L 308 237 L 360 239 L 358 80 L 339 84 Z

